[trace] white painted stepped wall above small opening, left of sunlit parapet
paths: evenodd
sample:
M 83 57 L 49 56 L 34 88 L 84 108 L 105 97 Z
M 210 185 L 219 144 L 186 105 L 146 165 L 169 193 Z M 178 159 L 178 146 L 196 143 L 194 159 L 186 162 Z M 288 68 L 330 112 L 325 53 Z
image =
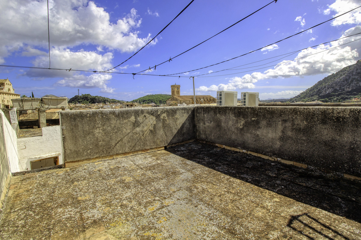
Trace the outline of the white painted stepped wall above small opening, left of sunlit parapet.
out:
M 42 131 L 43 136 L 18 139 L 20 171 L 30 170 L 30 161 L 42 158 L 59 156 L 59 164 L 63 163 L 60 126 L 43 127 Z

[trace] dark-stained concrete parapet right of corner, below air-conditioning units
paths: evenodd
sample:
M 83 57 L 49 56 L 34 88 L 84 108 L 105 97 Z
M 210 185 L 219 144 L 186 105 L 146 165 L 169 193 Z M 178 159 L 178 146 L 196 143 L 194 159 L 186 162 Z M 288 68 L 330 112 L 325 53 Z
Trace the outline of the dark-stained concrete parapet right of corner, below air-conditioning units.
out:
M 196 107 L 197 139 L 361 177 L 361 108 Z

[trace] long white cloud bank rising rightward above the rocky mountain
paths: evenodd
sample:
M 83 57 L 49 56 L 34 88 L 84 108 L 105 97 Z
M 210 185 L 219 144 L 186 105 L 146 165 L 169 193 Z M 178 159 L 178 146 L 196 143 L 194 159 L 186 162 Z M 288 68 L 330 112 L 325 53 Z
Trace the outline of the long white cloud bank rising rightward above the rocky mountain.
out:
M 354 33 L 360 32 L 361 26 L 350 28 L 345 31 L 343 36 L 349 36 Z M 347 39 L 339 40 L 332 44 L 320 45 L 316 48 L 309 48 L 301 51 L 296 60 L 284 60 L 274 68 L 268 69 L 264 72 L 253 72 L 245 74 L 243 77 L 234 77 L 227 84 L 212 85 L 210 87 L 201 86 L 199 91 L 217 91 L 217 90 L 235 90 L 235 89 L 252 89 L 255 88 L 254 83 L 259 80 L 268 80 L 273 78 L 290 78 L 294 76 L 311 76 L 322 73 L 334 73 L 354 64 L 358 60 L 361 52 L 360 42 L 356 41 L 352 44 L 336 47 L 345 42 L 359 39 L 360 36 L 353 36 Z M 328 50 L 330 49 L 330 50 Z M 323 50 L 328 50 L 320 53 Z M 312 56 L 311 54 L 318 53 Z M 305 57 L 305 58 L 302 58 Z M 298 59 L 301 58 L 301 59 Z M 290 61 L 290 62 L 288 62 Z

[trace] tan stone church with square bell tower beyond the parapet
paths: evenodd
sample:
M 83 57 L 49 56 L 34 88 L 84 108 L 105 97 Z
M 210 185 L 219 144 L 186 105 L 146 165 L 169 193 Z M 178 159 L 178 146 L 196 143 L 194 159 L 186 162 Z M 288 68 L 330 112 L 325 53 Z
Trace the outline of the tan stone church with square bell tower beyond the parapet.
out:
M 181 85 L 171 85 L 171 97 L 166 100 L 167 105 L 184 105 L 184 104 L 194 104 L 193 95 L 181 95 Z M 217 103 L 217 99 L 211 95 L 196 95 L 196 104 L 212 104 Z

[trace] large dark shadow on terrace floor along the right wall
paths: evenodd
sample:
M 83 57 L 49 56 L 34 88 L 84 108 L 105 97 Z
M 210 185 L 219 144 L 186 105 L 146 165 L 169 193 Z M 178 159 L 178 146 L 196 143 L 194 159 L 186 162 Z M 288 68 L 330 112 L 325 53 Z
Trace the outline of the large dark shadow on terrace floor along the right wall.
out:
M 177 146 L 167 151 L 274 193 L 361 222 L 359 181 L 329 177 L 322 173 L 199 142 Z M 295 217 L 295 221 L 299 219 L 299 216 Z

